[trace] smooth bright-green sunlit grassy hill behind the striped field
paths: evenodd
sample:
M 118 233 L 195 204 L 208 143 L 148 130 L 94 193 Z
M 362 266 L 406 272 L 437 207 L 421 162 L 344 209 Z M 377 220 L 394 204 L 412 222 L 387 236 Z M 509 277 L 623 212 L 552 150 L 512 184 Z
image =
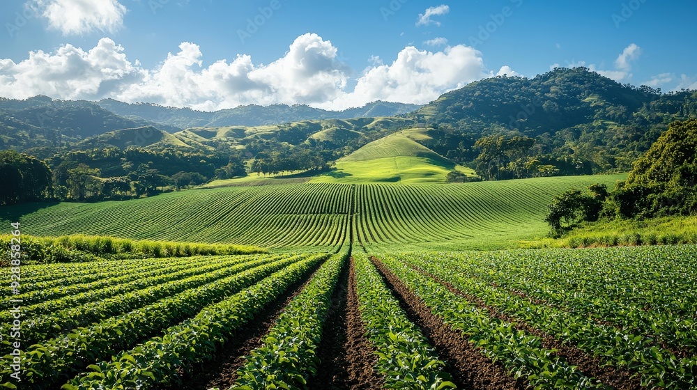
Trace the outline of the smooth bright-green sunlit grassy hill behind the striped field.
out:
M 420 133 L 412 131 L 408 134 L 418 137 Z M 312 178 L 311 181 L 444 183 L 447 173 L 453 170 L 475 176 L 474 171 L 457 166 L 411 137 L 399 132 L 368 143 L 339 159 L 335 171 Z

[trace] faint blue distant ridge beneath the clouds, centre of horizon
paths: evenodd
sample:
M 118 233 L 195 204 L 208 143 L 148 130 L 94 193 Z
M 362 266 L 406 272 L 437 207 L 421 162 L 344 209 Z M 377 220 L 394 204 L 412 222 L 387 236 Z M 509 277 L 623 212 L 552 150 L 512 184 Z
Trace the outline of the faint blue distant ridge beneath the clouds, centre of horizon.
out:
M 313 119 L 350 119 L 375 116 L 395 116 L 419 109 L 417 104 L 372 102 L 363 107 L 344 111 L 326 111 L 305 104 L 273 104 L 258 106 L 250 104 L 233 109 L 206 112 L 175 107 L 162 107 L 158 104 L 128 104 L 113 99 L 100 100 L 98 104 L 109 111 L 127 117 L 144 118 L 154 123 L 187 127 L 222 127 L 222 126 L 260 126 L 297 122 Z

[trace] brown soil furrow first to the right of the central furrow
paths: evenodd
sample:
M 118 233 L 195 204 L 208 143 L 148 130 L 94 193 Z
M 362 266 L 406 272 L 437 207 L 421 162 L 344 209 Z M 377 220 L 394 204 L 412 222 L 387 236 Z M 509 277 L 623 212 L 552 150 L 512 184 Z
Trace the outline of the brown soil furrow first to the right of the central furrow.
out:
M 525 389 L 528 382 L 514 380 L 500 364 L 481 354 L 460 331 L 446 325 L 443 319 L 431 313 L 421 299 L 404 286 L 377 258 L 371 260 L 385 279 L 388 287 L 397 294 L 408 318 L 421 327 L 436 352 L 450 365 L 450 373 L 458 389 Z

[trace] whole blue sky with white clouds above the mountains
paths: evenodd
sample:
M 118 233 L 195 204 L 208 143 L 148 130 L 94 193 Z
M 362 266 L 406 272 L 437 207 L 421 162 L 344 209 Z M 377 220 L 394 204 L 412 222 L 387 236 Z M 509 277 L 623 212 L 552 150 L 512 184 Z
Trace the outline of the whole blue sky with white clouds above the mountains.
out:
M 0 15 L 8 98 L 345 109 L 574 65 L 697 88 L 688 0 L 10 0 Z

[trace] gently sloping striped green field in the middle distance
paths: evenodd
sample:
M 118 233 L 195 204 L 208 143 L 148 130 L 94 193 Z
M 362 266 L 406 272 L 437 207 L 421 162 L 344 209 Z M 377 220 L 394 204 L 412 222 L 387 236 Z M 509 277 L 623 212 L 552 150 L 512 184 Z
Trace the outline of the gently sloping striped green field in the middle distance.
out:
M 0 208 L 0 219 L 3 224 L 19 220 L 23 233 L 31 235 L 82 233 L 298 249 L 336 247 L 353 231 L 354 242 L 368 247 L 502 247 L 544 236 L 548 228 L 542 219 L 555 194 L 593 182 L 612 186 L 624 178 L 226 187 L 123 202 L 29 203 Z

